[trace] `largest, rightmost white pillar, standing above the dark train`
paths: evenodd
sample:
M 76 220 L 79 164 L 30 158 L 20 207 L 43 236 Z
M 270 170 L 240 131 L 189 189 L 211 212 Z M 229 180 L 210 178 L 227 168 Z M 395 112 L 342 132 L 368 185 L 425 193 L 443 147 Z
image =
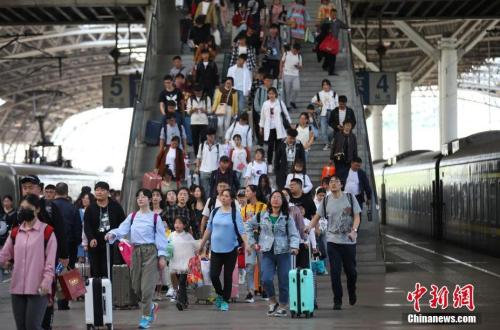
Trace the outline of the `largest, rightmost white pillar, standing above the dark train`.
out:
M 442 38 L 438 65 L 439 87 L 439 142 L 440 145 L 458 137 L 457 126 L 457 40 Z

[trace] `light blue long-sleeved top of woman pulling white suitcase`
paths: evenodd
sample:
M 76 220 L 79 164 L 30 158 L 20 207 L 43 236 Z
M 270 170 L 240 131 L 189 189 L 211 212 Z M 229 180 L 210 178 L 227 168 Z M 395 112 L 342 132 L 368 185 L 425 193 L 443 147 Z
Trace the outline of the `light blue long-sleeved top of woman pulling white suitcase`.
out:
M 158 249 L 158 256 L 167 256 L 167 237 L 165 236 L 165 227 L 161 221 L 160 216 L 156 220 L 156 228 L 154 223 L 155 213 L 149 211 L 148 213 L 137 212 L 130 228 L 132 214 L 123 221 L 116 229 L 110 230 L 109 234 L 114 235 L 111 243 L 125 236 L 130 236 L 130 243 L 133 244 L 155 244 Z

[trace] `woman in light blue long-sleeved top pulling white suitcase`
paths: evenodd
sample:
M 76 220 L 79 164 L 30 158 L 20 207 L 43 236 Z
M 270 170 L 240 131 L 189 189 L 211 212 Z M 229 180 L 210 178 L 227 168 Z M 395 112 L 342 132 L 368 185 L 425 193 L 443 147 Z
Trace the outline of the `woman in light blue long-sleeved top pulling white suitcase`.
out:
M 151 211 L 149 204 L 153 195 L 148 189 L 139 189 L 136 194 L 138 212 L 133 212 L 116 229 L 110 230 L 104 239 L 111 244 L 125 236 L 134 245 L 130 277 L 132 289 L 143 304 L 139 328 L 148 329 L 156 319 L 158 304 L 153 303 L 155 280 L 158 269 L 167 265 L 167 238 L 159 216 Z

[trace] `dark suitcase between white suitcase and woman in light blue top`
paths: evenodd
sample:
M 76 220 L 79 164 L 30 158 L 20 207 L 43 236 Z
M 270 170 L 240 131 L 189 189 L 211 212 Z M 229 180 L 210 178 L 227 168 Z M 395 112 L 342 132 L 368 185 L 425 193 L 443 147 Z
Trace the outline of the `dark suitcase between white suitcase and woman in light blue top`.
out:
M 117 309 L 139 307 L 139 299 L 132 290 L 130 270 L 127 265 L 113 266 L 113 306 Z

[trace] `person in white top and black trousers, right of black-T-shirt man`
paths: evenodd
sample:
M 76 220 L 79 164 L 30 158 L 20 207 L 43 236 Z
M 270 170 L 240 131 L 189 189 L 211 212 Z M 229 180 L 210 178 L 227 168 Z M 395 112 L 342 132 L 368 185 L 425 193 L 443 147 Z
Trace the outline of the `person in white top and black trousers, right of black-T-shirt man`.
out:
M 194 94 L 189 97 L 186 112 L 191 116 L 191 134 L 193 135 L 194 154 L 198 154 L 200 143 L 207 139 L 208 114 L 212 112 L 212 101 L 207 95 L 203 95 L 200 84 L 193 87 Z

